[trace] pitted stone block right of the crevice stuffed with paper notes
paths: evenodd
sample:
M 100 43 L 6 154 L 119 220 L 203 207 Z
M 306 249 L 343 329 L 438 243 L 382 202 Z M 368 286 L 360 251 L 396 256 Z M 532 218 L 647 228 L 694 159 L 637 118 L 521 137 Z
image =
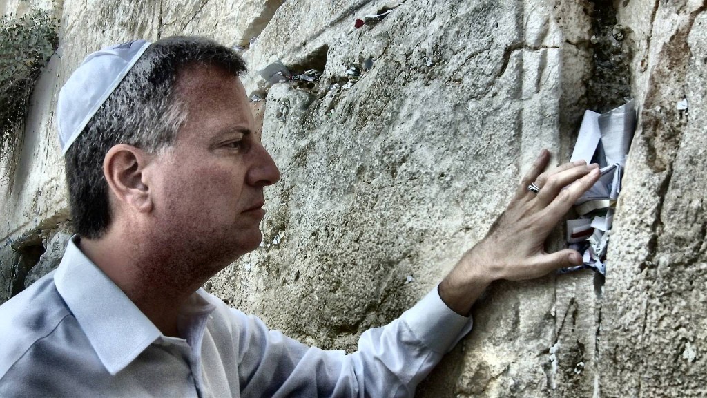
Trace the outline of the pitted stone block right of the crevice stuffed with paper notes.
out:
M 703 397 L 707 13 L 698 1 L 650 6 L 621 11 L 639 43 L 633 89 L 643 107 L 609 246 L 601 389 L 606 397 Z M 676 107 L 683 98 L 686 112 Z

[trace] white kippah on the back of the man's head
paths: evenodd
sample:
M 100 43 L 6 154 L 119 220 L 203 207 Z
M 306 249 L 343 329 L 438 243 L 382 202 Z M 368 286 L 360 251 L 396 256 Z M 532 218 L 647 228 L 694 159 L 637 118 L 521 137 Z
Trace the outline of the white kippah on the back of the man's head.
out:
M 57 100 L 63 154 L 149 45 L 148 41 L 134 40 L 93 52 L 69 76 Z

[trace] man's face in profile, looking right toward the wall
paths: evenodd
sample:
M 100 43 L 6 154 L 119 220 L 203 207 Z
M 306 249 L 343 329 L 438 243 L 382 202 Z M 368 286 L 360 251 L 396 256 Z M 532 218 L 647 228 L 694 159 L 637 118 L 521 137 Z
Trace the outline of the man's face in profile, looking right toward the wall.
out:
M 173 147 L 156 155 L 155 220 L 170 249 L 228 263 L 260 244 L 263 188 L 279 180 L 279 170 L 254 135 L 238 77 L 190 67 L 180 74 L 177 93 L 187 121 Z

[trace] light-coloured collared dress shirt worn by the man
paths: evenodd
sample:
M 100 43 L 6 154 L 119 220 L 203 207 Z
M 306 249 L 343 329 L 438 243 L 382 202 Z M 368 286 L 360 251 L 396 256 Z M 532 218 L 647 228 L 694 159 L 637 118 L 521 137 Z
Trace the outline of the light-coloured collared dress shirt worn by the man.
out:
M 405 397 L 472 327 L 435 288 L 358 351 L 269 331 L 199 289 L 163 336 L 72 237 L 61 265 L 0 306 L 0 397 Z

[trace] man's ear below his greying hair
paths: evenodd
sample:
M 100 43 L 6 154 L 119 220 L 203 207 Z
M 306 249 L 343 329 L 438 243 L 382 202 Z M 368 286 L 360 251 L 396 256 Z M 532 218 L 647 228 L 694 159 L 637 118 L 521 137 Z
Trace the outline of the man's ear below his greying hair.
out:
M 151 156 L 127 144 L 110 148 L 103 158 L 103 176 L 117 203 L 137 212 L 150 212 L 153 207 L 150 188 L 143 171 Z

